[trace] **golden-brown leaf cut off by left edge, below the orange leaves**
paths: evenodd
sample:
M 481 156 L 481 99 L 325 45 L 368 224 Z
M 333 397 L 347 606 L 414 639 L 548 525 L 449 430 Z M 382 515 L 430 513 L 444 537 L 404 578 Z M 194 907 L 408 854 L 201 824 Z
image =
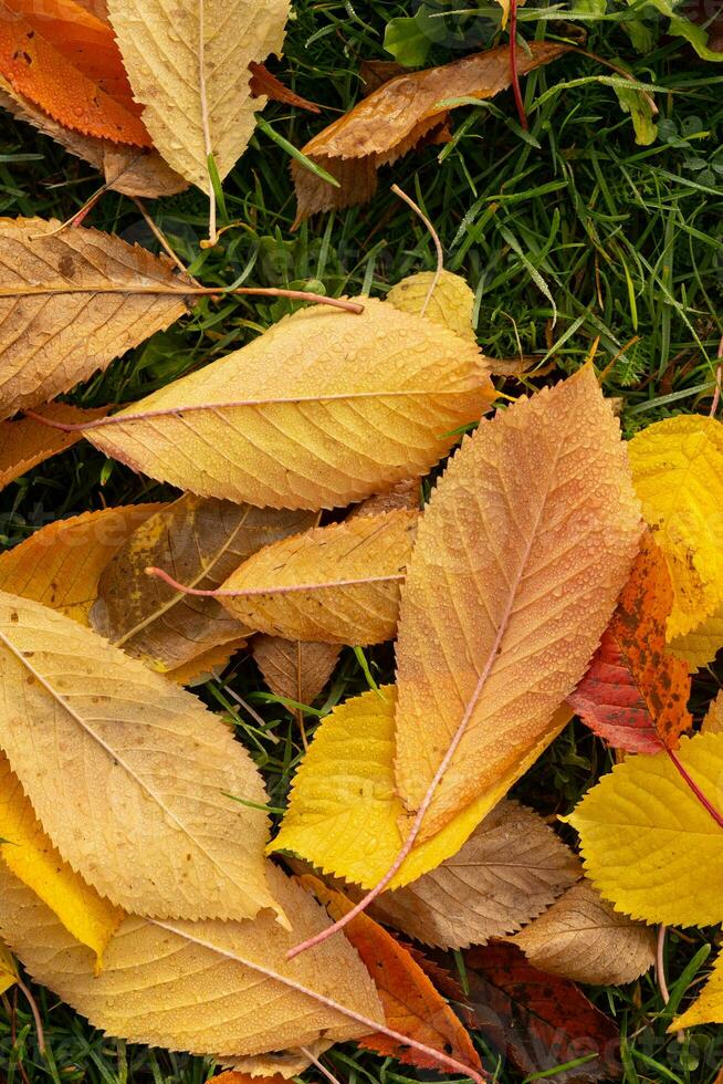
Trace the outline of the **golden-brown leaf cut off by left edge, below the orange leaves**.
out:
M 92 229 L 0 219 L 0 417 L 45 403 L 178 320 L 189 280 Z M 170 293 L 128 293 L 142 285 Z

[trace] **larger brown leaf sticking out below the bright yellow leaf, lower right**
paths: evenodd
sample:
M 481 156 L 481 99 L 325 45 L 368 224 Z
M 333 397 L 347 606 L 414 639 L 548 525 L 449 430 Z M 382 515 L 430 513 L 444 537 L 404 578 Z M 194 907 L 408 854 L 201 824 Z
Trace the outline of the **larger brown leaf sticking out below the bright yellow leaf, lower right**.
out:
M 503 801 L 461 851 L 383 893 L 369 913 L 427 945 L 467 948 L 520 929 L 580 874 L 579 861 L 542 817 Z

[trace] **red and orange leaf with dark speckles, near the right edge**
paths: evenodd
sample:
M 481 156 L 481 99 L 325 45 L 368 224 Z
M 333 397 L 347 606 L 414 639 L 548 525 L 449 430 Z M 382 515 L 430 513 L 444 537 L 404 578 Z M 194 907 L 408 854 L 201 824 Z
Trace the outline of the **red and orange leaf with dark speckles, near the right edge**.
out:
M 617 749 L 675 749 L 693 723 L 688 667 L 666 653 L 672 603 L 666 559 L 648 533 L 593 664 L 568 697 L 583 721 Z

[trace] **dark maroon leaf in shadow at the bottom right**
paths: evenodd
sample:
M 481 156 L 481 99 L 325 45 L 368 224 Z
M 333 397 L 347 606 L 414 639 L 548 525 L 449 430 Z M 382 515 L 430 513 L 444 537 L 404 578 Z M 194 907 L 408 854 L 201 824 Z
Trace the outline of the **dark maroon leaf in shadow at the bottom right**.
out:
M 618 1030 L 573 982 L 533 968 L 514 945 L 464 953 L 474 1025 L 525 1076 L 570 1084 L 620 1076 Z M 559 1065 L 587 1059 L 567 1072 Z

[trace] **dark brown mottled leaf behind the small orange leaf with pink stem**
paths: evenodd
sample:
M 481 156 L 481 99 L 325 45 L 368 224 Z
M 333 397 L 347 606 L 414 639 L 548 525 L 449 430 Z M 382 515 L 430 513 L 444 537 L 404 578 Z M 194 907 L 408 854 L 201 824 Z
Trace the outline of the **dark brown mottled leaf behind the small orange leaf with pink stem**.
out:
M 93 627 L 151 669 L 186 668 L 242 639 L 248 626 L 214 598 L 186 595 L 149 577 L 147 566 L 172 569 L 184 584 L 213 590 L 256 550 L 303 531 L 313 519 L 186 493 L 147 519 L 107 565 L 91 613 Z

